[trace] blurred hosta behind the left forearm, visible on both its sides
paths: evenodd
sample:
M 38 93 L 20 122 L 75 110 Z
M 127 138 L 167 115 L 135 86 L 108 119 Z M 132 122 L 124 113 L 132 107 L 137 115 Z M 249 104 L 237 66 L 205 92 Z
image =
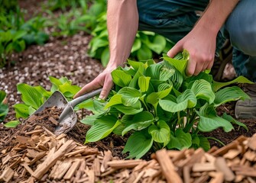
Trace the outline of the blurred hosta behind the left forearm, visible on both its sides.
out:
M 109 40 L 106 26 L 106 14 L 101 14 L 97 19 L 97 26 L 92 31 L 92 40 L 89 42 L 89 56 L 101 59 L 102 65 L 109 62 Z M 167 53 L 173 43 L 166 38 L 149 31 L 138 31 L 133 47 L 131 58 L 138 60 L 151 59 L 154 54 Z

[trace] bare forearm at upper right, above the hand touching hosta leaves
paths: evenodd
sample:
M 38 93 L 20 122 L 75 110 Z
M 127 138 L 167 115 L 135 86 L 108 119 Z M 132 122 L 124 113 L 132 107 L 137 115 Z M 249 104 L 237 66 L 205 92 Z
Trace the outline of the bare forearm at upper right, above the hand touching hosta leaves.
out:
M 239 0 L 211 0 L 195 27 L 201 27 L 215 35 L 218 34 L 238 2 Z

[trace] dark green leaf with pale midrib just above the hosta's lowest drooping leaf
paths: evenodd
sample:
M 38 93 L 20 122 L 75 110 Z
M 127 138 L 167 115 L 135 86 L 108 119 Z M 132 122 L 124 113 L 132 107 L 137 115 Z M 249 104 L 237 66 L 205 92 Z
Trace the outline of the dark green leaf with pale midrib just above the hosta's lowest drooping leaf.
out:
M 131 120 L 126 121 L 125 129 L 122 131 L 122 136 L 129 130 L 142 130 L 154 122 L 154 116 L 150 112 L 142 111 L 135 114 Z

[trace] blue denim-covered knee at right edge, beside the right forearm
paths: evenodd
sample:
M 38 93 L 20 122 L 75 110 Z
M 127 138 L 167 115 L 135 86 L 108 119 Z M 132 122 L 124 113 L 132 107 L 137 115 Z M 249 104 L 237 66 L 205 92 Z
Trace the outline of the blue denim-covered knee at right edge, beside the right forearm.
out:
M 236 73 L 256 82 L 256 1 L 240 1 L 224 30 L 234 47 L 232 62 Z

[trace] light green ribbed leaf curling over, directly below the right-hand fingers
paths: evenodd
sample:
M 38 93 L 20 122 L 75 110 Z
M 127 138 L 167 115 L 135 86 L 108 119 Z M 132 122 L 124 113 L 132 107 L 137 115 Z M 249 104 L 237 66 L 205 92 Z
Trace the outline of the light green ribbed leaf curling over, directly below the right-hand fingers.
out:
M 196 98 L 202 98 L 212 104 L 215 99 L 214 92 L 212 92 L 212 86 L 204 79 L 199 79 L 193 82 L 191 90 L 196 95 Z

